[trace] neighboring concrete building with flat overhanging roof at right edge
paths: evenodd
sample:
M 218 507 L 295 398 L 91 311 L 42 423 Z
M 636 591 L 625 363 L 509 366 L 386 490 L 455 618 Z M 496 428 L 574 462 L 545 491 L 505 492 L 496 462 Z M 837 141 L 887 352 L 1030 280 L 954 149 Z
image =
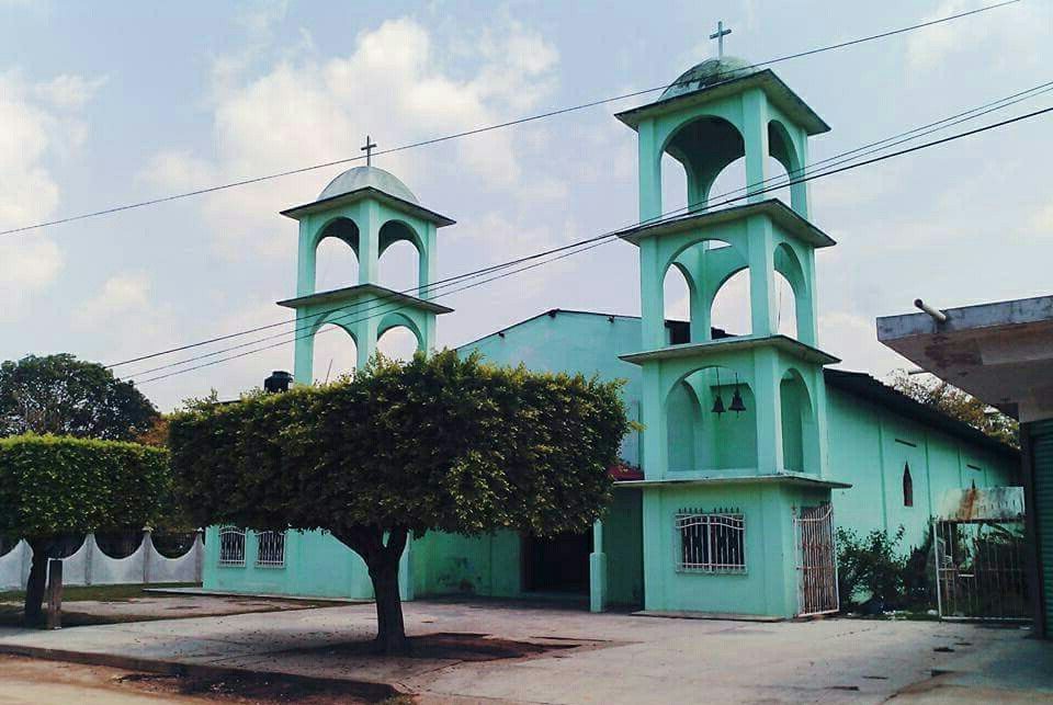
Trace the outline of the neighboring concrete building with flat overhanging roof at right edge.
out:
M 944 320 L 940 320 L 943 318 Z M 1020 421 L 1035 627 L 1053 627 L 1053 296 L 878 319 L 878 338 Z

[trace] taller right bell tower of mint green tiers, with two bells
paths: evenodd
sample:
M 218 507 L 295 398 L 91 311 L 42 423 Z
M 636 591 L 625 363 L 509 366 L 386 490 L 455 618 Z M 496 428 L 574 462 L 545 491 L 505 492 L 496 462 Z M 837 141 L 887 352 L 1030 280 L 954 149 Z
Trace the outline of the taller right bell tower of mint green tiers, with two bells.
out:
M 620 236 L 639 249 L 642 345 L 622 359 L 643 372 L 646 607 L 799 614 L 794 516 L 846 487 L 829 477 L 826 451 L 823 367 L 838 361 L 816 330 L 815 251 L 834 241 L 808 220 L 805 182 L 790 186 L 789 204 L 765 189 L 769 159 L 790 180 L 804 175 L 808 138 L 829 127 L 773 71 L 723 46 L 616 117 L 638 136 L 639 225 Z M 663 203 L 665 155 L 683 167 L 686 205 Z M 739 159 L 739 197 L 712 193 Z M 665 325 L 670 268 L 690 297 L 689 340 L 676 344 Z M 749 330 L 715 337 L 713 300 L 743 271 Z M 795 337 L 779 332 L 777 272 L 793 291 Z

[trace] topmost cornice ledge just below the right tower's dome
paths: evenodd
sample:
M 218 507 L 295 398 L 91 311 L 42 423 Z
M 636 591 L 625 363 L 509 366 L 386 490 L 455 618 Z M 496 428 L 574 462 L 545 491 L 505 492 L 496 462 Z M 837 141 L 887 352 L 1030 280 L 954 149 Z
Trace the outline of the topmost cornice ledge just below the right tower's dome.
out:
M 755 87 L 765 91 L 768 100 L 785 113 L 786 117 L 801 125 L 808 135 L 822 135 L 830 132 L 830 126 L 814 110 L 808 107 L 808 104 L 800 95 L 783 83 L 782 79 L 775 76 L 775 72 L 771 69 L 763 69 L 739 78 L 731 78 L 689 93 L 660 99 L 654 103 L 615 113 L 614 117 L 636 129 L 645 120 L 680 111 L 684 107 L 701 105 Z

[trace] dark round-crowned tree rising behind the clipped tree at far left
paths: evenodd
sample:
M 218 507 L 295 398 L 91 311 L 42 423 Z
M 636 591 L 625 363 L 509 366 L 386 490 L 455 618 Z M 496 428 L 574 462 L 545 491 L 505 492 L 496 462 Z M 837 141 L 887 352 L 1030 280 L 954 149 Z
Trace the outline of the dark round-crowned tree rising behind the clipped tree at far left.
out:
M 0 435 L 131 441 L 156 418 L 149 399 L 98 363 L 60 354 L 0 364 Z

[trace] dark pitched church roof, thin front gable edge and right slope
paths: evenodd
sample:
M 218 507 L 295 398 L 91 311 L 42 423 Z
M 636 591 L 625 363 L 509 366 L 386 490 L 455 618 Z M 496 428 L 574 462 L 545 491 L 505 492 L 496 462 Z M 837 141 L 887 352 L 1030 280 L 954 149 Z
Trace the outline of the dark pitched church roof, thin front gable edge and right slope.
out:
M 564 308 L 552 308 L 546 311 L 542 311 L 536 316 L 531 316 L 528 319 L 521 320 L 518 323 L 512 323 L 511 326 L 506 326 L 499 331 L 494 331 L 488 333 L 483 338 L 473 340 L 472 342 L 458 345 L 458 349 L 468 348 L 475 343 L 482 341 L 485 338 L 495 336 L 498 333 L 505 333 L 506 331 L 512 330 L 513 328 L 520 328 L 526 323 L 534 321 L 543 316 L 548 316 L 551 318 L 556 318 L 559 314 L 575 314 L 580 316 L 601 316 L 613 320 L 615 318 L 622 318 L 627 320 L 641 320 L 639 316 L 625 316 L 622 314 L 603 314 L 600 311 L 584 311 L 584 310 L 573 310 Z M 666 327 L 668 328 L 682 328 L 687 327 L 688 321 L 681 320 L 666 320 Z M 721 329 L 713 328 L 713 338 L 729 338 L 731 333 Z M 907 417 L 920 423 L 925 423 L 929 427 L 943 431 L 949 435 L 953 435 L 963 441 L 974 443 L 987 451 L 990 451 L 996 454 L 1005 455 L 1014 460 L 1019 460 L 1020 453 L 1014 447 L 1006 445 L 1005 443 L 993 439 L 983 431 L 973 428 L 972 425 L 960 421 L 953 417 L 950 417 L 942 411 L 933 409 L 932 407 L 926 406 L 915 399 L 908 397 L 884 384 L 880 379 L 871 376 L 865 372 L 850 372 L 847 369 L 830 369 L 829 367 L 823 368 L 824 377 L 826 383 L 836 389 L 850 394 L 854 397 L 870 401 L 878 406 L 884 407 L 890 411 L 898 413 L 899 416 Z

